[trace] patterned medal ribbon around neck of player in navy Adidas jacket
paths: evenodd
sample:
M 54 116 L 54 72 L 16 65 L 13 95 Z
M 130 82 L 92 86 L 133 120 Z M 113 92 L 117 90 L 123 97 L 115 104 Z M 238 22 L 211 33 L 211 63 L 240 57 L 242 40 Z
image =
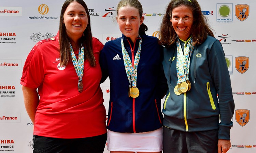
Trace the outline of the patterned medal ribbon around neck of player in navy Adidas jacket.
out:
M 131 59 L 130 59 L 129 54 L 126 51 L 125 46 L 124 46 L 123 38 L 121 40 L 125 70 L 126 70 L 126 74 L 127 74 L 127 77 L 128 77 L 128 80 L 129 80 L 130 84 L 132 82 L 132 87 L 137 86 L 137 72 L 138 72 L 138 64 L 139 64 L 139 61 L 140 61 L 141 42 L 142 42 L 142 39 L 140 39 L 139 48 L 138 48 L 138 51 L 136 53 L 134 64 L 133 64 L 133 67 L 132 67 Z

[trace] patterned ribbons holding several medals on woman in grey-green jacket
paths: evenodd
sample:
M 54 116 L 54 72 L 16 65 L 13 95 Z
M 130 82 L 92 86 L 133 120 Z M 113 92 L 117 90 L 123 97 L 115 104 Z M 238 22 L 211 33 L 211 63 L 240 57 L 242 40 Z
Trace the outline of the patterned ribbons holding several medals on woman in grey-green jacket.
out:
M 180 84 L 180 83 L 186 82 L 186 80 L 188 80 L 190 55 L 194 49 L 193 39 L 192 39 L 192 37 L 190 37 L 187 46 L 184 47 L 184 54 L 181 49 L 181 44 L 180 44 L 179 38 L 176 41 L 176 45 L 177 45 L 176 70 L 177 70 L 177 77 L 178 77 L 177 84 Z M 186 45 L 186 43 L 185 43 L 185 45 Z

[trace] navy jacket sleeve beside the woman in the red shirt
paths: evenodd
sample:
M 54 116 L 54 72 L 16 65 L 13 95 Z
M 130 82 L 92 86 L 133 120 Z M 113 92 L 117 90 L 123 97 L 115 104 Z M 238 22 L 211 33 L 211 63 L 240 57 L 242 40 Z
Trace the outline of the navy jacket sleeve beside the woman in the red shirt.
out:
M 102 71 L 102 77 L 100 83 L 103 83 L 109 77 L 108 61 L 106 60 L 106 53 L 108 52 L 107 46 L 105 45 L 100 52 L 100 67 Z

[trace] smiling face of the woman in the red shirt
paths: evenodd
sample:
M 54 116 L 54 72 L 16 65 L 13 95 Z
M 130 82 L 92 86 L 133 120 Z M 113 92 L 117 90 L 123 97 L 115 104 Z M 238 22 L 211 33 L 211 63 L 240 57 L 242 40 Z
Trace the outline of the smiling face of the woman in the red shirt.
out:
M 82 37 L 88 24 L 85 8 L 75 1 L 70 3 L 63 15 L 63 23 L 70 38 Z

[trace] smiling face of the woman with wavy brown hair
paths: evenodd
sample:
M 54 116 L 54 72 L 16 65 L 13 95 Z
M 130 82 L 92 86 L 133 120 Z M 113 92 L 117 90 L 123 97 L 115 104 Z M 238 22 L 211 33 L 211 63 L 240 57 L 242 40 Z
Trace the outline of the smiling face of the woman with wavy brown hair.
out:
M 193 25 L 193 13 L 191 9 L 185 5 L 175 7 L 172 10 L 170 21 L 179 38 L 186 41 L 191 34 L 191 27 Z

